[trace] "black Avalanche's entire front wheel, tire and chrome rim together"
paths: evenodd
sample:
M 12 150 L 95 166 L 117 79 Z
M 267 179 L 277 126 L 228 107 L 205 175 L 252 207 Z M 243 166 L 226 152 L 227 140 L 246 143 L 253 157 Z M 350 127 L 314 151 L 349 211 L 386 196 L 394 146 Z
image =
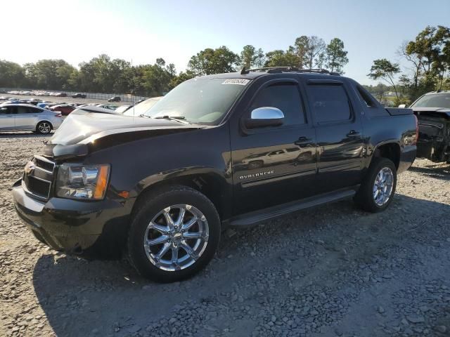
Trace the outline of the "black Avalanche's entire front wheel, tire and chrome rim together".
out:
M 143 277 L 176 282 L 202 270 L 219 239 L 214 204 L 189 187 L 172 187 L 139 206 L 129 230 L 129 260 Z

